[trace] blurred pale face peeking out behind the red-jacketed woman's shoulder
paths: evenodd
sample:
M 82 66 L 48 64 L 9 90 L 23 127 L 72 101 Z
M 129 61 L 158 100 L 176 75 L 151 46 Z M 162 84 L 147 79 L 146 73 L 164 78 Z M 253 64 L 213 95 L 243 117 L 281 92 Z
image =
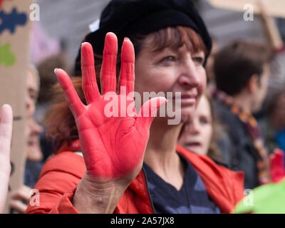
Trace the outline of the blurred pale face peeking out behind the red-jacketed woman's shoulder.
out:
M 207 155 L 211 139 L 211 109 L 207 98 L 202 96 L 192 121 L 185 124 L 178 143 L 199 155 Z

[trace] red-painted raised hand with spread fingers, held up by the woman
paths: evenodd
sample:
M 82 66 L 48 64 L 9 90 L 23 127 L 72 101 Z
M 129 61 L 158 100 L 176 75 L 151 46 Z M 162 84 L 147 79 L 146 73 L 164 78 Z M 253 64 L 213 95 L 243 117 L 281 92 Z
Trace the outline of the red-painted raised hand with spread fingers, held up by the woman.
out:
M 93 48 L 90 43 L 82 44 L 82 87 L 88 105 L 81 102 L 67 73 L 61 69 L 55 70 L 76 119 L 88 175 L 94 177 L 96 182 L 123 180 L 130 183 L 138 175 L 153 113 L 166 103 L 165 98 L 152 98 L 136 114 L 133 96 L 128 96 L 134 90 L 135 79 L 135 53 L 133 43 L 128 39 L 125 39 L 122 46 L 120 93 L 115 93 L 117 51 L 117 38 L 114 33 L 108 33 L 100 73 L 103 94 L 100 95 L 95 77 Z M 123 90 L 126 93 L 122 93 Z M 110 97 L 113 98 L 113 108 L 108 108 Z M 115 107 L 118 107 L 118 116 L 110 116 Z M 143 111 L 146 109 L 146 112 Z M 125 111 L 121 113 L 120 110 Z M 143 116 L 145 113 L 149 115 Z

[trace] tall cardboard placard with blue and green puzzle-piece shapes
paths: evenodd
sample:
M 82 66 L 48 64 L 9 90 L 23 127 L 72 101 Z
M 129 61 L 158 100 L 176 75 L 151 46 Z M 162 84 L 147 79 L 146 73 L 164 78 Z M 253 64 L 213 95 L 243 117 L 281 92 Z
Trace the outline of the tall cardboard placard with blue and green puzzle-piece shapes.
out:
M 26 76 L 28 73 L 33 0 L 0 0 L 0 105 L 14 114 L 11 145 L 12 173 L 4 213 L 9 213 L 10 192 L 24 181 L 26 160 Z

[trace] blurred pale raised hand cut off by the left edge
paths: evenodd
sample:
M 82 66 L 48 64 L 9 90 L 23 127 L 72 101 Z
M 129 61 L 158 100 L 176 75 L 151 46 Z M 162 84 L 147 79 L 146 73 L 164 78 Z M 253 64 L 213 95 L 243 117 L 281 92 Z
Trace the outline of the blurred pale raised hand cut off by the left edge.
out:
M 4 210 L 11 174 L 10 152 L 12 125 L 12 108 L 10 105 L 3 105 L 0 117 L 0 213 Z

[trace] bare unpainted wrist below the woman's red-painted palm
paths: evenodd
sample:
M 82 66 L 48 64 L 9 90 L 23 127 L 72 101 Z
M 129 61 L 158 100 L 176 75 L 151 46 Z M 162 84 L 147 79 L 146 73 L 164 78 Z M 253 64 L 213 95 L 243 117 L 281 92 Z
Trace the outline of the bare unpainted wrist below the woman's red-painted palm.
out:
M 116 182 L 95 180 L 86 173 L 78 183 L 73 206 L 78 212 L 86 214 L 113 213 L 126 187 Z

